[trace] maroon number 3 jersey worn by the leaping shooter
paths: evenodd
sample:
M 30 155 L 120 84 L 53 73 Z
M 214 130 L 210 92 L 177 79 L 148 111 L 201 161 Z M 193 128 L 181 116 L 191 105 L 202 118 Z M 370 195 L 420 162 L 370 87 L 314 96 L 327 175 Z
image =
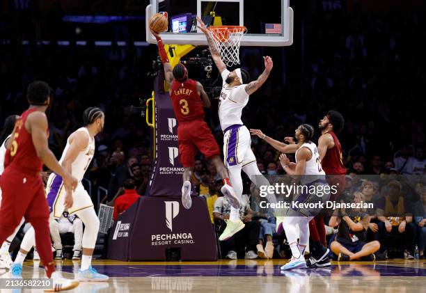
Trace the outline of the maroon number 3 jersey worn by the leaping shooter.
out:
M 197 82 L 173 80 L 170 93 L 173 111 L 179 123 L 204 120 L 203 103 L 197 93 Z

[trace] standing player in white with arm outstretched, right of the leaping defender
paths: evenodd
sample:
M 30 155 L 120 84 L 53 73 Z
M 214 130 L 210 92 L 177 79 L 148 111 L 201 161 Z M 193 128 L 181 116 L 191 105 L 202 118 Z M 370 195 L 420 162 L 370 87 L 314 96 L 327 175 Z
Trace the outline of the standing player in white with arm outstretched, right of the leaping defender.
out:
M 326 200 L 329 200 L 330 193 L 323 192 L 324 186 L 327 185 L 327 182 L 325 180 L 325 172 L 322 170 L 317 145 L 310 141 L 314 134 L 314 129 L 311 125 L 302 124 L 297 127 L 295 132 L 297 144 L 290 145 L 281 143 L 280 141 L 276 141 L 273 138 L 266 136 L 259 129 L 251 129 L 251 133 L 264 139 L 276 150 L 283 152 L 283 155 L 280 156 L 281 165 L 288 175 L 295 177 L 295 179 L 299 181 L 298 184 L 308 187 L 308 190 L 314 186 L 316 190 L 322 191 L 321 194 L 302 192 L 293 198 L 293 201 L 315 204 L 325 203 Z M 296 153 L 296 163 L 290 162 L 285 155 L 285 153 L 289 154 L 294 152 Z M 306 246 L 309 244 L 309 221 L 312 220 L 320 211 L 320 207 L 292 207 L 287 209 L 283 221 L 283 228 L 287 241 L 290 244 L 292 258 L 290 259 L 290 262 L 281 267 L 281 269 L 306 268 L 304 252 Z M 297 226 L 299 226 L 299 232 L 297 232 Z M 297 242 L 297 239 L 299 239 L 299 243 Z M 329 249 L 326 249 L 322 258 L 325 258 L 329 252 Z

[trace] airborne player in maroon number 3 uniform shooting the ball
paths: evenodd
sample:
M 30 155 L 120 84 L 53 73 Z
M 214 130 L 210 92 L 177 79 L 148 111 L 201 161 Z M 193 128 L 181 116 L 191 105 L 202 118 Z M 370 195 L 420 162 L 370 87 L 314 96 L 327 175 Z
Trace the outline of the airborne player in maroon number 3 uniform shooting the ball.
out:
M 152 35 L 157 39 L 159 56 L 170 88 L 173 111 L 178 119 L 179 160 L 184 166 L 182 205 L 186 209 L 191 208 L 190 180 L 194 172 L 195 155 L 198 149 L 207 160 L 212 161 L 217 173 L 221 176 L 224 183 L 221 189 L 223 195 L 228 198 L 233 207 L 239 208 L 240 203 L 231 187 L 228 170 L 221 159 L 219 145 L 204 121 L 203 106 L 210 107 L 210 100 L 203 85 L 194 79 L 189 79 L 188 70 L 182 63 L 172 70 L 161 37 L 154 31 Z

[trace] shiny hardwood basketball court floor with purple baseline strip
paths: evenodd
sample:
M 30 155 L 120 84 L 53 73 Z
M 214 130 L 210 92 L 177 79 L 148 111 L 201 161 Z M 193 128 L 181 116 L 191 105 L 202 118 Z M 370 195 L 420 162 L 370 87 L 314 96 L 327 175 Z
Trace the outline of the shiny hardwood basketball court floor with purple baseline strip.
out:
M 108 283 L 81 283 L 69 292 L 426 292 L 426 260 L 333 262 L 326 269 L 281 273 L 287 260 L 220 260 L 218 262 L 119 262 L 95 260 L 111 277 Z M 66 278 L 79 262 L 56 262 Z M 23 278 L 45 273 L 26 262 Z M 7 273 L 1 276 L 7 277 Z M 1 290 L 1 292 L 12 292 Z M 14 290 L 13 292 L 20 292 Z M 22 290 L 42 292 L 42 290 Z

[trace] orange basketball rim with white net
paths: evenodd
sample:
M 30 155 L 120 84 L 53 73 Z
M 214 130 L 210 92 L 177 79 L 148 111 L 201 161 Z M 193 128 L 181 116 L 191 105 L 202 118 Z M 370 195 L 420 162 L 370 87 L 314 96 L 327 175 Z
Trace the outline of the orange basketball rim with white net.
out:
M 247 32 L 245 26 L 209 26 L 210 36 L 221 55 L 222 61 L 228 65 L 239 64 L 239 43 Z

